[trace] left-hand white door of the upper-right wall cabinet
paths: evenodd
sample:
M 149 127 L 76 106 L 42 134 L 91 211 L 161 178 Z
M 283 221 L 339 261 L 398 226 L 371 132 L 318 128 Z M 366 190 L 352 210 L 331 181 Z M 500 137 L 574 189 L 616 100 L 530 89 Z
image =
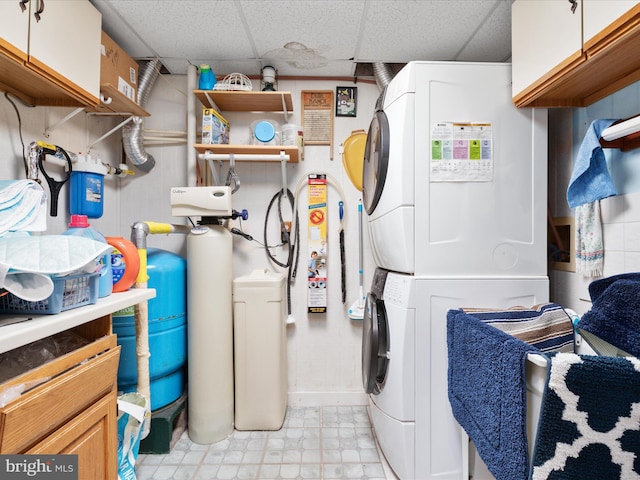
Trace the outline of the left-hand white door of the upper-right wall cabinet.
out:
M 511 7 L 513 96 L 582 56 L 582 2 L 516 0 Z

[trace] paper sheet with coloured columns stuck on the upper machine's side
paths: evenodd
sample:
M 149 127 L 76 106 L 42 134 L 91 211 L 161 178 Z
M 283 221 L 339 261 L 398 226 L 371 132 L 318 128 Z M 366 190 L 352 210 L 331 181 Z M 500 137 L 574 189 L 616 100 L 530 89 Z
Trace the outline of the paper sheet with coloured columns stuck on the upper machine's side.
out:
M 493 179 L 493 131 L 487 122 L 436 122 L 431 128 L 432 182 Z

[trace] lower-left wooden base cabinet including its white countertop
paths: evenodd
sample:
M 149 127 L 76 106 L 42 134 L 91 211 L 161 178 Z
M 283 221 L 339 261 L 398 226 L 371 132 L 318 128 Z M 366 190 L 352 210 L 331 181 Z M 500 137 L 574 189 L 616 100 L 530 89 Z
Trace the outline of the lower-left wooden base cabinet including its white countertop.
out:
M 154 290 L 133 289 L 95 305 L 23 322 L 19 316 L 0 316 L 0 352 L 63 331 L 89 342 L 0 384 L 0 391 L 37 384 L 0 408 L 0 453 L 77 454 L 78 478 L 117 478 L 120 347 L 112 333 L 111 312 L 154 295 Z M 17 323 L 2 326 L 7 320 Z

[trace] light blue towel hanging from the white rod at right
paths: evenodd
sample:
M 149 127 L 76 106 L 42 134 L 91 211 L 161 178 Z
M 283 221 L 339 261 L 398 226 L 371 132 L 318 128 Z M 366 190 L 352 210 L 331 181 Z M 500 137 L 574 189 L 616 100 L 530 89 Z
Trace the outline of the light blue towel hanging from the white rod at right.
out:
M 567 200 L 571 208 L 617 195 L 600 146 L 602 131 L 615 121 L 604 118 L 591 122 L 578 150 L 567 189 Z

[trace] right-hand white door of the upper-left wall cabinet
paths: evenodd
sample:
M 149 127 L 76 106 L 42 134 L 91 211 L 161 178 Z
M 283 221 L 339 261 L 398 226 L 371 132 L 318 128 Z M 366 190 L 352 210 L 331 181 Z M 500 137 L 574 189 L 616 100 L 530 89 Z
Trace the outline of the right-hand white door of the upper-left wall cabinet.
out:
M 98 103 L 102 15 L 88 0 L 47 0 L 36 21 L 40 0 L 31 2 L 28 65 L 62 86 L 73 83 Z

